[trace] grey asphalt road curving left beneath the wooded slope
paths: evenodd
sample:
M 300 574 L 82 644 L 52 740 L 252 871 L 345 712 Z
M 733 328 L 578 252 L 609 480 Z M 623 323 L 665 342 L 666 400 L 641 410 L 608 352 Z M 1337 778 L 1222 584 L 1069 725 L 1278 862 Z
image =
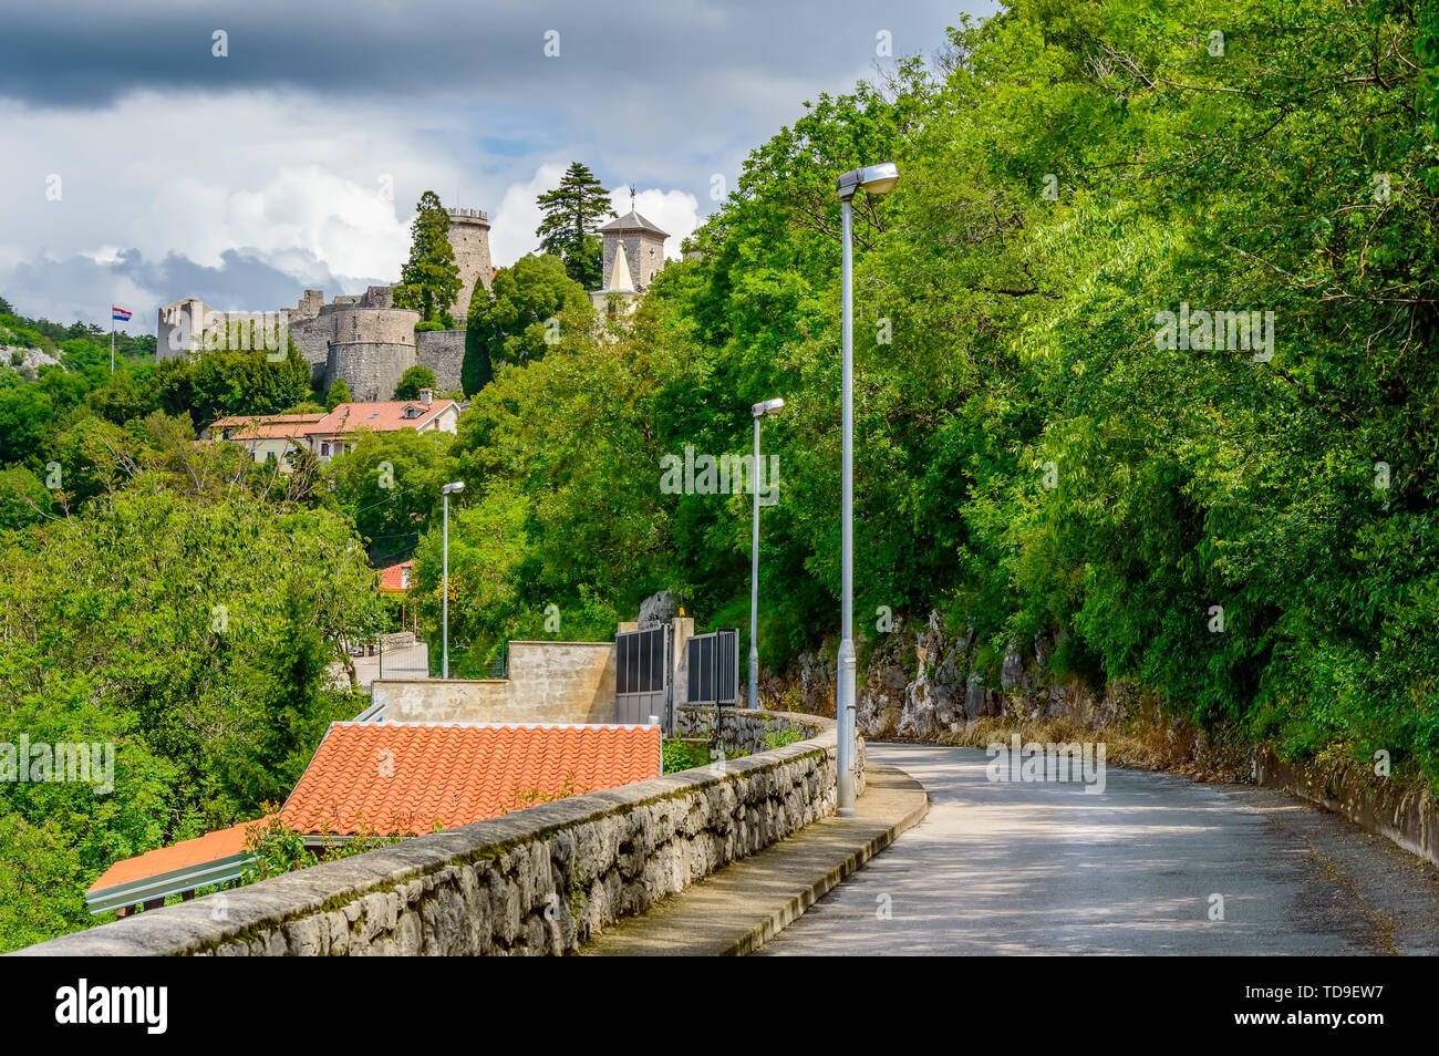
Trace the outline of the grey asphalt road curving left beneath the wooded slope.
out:
M 1094 794 L 990 781 L 976 748 L 868 752 L 925 786 L 928 817 L 758 955 L 1439 952 L 1439 870 L 1281 793 L 1108 767 Z

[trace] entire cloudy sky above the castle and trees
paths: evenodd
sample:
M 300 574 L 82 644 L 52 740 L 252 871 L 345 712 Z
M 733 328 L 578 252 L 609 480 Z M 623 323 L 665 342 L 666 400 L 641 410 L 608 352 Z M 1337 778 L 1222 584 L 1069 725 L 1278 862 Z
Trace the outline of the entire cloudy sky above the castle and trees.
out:
M 414 201 L 535 247 L 571 160 L 671 233 L 709 213 L 803 101 L 931 56 L 990 0 L 12 6 L 0 32 L 0 295 L 24 315 L 154 332 L 186 295 L 292 305 L 393 282 Z M 223 32 L 222 43 L 216 33 Z M 217 50 L 227 55 L 217 56 Z M 554 52 L 558 55 L 554 55 Z M 547 53 L 548 52 L 548 53 Z M 862 158 L 856 158 L 862 161 Z

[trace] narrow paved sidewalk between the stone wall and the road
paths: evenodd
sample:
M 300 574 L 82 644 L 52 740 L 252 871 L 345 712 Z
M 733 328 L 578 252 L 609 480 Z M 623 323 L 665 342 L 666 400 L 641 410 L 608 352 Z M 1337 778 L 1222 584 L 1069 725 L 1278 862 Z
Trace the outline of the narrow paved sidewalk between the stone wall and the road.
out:
M 924 819 L 924 787 L 871 763 L 856 817 L 827 817 L 725 866 L 587 944 L 581 957 L 741 957 Z

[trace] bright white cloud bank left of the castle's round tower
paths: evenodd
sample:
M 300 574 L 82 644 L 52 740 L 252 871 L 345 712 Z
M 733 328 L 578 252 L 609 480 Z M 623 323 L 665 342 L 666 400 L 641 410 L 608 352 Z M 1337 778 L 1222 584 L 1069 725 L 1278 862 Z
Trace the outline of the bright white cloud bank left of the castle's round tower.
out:
M 327 293 L 358 292 L 399 278 L 420 191 L 459 183 L 443 141 L 393 115 L 327 122 L 294 94 L 134 92 L 96 109 L 0 99 L 0 127 L 14 147 L 0 167 L 0 200 L 12 206 L 0 222 L 0 291 L 27 285 L 27 263 L 33 282 L 58 273 L 45 262 L 69 258 L 112 265 L 138 250 L 151 262 L 176 253 L 220 268 L 222 255 L 239 249 L 294 275 L 296 286 L 348 276 L 355 288 Z M 60 177 L 59 200 L 46 197 L 50 174 Z M 117 282 L 16 306 L 39 315 L 96 302 L 82 318 L 108 325 L 109 296 L 144 305 L 190 292 Z

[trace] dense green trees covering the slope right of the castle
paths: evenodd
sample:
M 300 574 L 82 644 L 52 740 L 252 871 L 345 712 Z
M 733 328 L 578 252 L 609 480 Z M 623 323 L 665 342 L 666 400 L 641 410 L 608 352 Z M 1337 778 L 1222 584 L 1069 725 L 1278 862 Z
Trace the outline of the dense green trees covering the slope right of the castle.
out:
M 855 213 L 858 611 L 938 607 L 990 678 L 1053 634 L 1056 676 L 1435 777 L 1435 17 L 1020 0 L 819 98 L 620 348 L 481 393 L 466 630 L 659 586 L 743 626 L 747 496 L 665 495 L 658 459 L 745 452 L 748 406 L 783 396 L 764 659 L 833 647 L 833 181 L 894 158 Z M 1206 340 L 1200 312 L 1235 315 Z

